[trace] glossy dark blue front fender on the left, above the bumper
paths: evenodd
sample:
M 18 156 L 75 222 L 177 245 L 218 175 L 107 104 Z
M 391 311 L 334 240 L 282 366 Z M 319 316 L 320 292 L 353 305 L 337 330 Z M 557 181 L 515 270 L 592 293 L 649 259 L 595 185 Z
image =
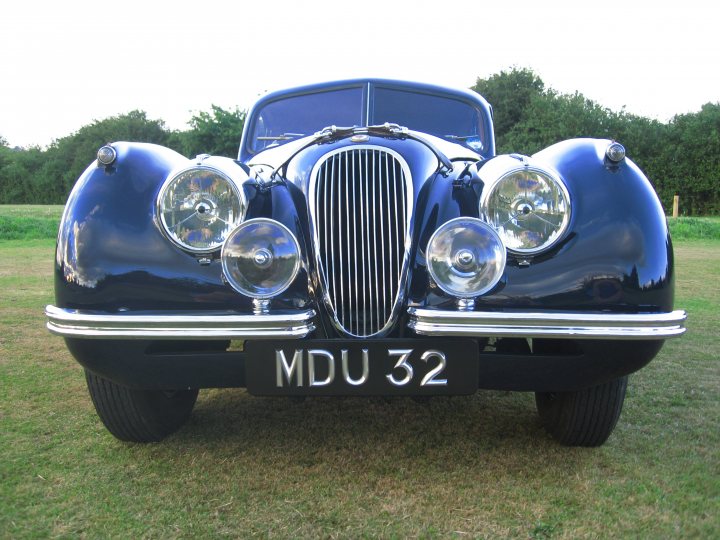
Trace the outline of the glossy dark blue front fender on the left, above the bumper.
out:
M 157 222 L 156 200 L 163 182 L 190 160 L 152 144 L 121 142 L 113 147 L 117 159 L 112 166 L 91 164 L 68 199 L 58 233 L 56 305 L 110 313 L 251 312 L 252 300 L 223 280 L 217 253 L 208 257 L 209 264 L 200 264 L 198 257 L 170 242 Z M 255 196 L 250 184 L 242 187 L 249 195 L 252 215 L 261 197 Z M 296 232 L 299 226 L 293 212 L 283 204 L 274 208 L 284 208 L 278 217 Z M 297 291 L 295 296 L 307 297 L 307 285 L 298 286 Z M 291 290 L 287 296 L 292 295 Z

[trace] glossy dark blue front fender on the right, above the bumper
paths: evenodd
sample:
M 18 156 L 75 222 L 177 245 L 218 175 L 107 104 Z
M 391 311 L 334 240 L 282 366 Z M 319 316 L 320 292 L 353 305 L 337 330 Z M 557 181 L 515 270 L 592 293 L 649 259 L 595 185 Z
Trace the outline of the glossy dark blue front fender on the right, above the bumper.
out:
M 606 160 L 609 143 L 574 139 L 532 156 L 534 164 L 557 171 L 567 186 L 572 205 L 568 230 L 555 246 L 535 257 L 510 254 L 500 283 L 476 299 L 477 310 L 672 310 L 673 252 L 662 206 L 630 159 L 619 164 Z M 450 197 L 450 190 L 463 188 L 445 189 Z M 483 189 L 487 186 L 479 186 Z M 429 292 L 424 299 L 414 295 L 416 305 L 455 303 L 425 283 L 418 289 Z

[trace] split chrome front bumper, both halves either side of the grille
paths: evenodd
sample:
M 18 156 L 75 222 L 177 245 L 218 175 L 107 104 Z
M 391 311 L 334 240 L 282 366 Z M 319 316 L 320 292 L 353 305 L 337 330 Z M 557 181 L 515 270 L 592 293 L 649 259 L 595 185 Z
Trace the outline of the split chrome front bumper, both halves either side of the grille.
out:
M 269 314 L 97 313 L 47 306 L 57 335 L 97 339 L 301 339 L 315 329 L 312 309 Z M 652 340 L 685 333 L 687 315 L 669 313 L 485 312 L 408 308 L 408 326 L 427 336 Z

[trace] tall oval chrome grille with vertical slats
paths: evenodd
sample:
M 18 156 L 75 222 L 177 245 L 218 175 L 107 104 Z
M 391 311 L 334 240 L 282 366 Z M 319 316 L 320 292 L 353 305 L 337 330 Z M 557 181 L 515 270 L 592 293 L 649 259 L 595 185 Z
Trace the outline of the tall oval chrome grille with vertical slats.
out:
M 407 162 L 382 146 L 339 148 L 313 167 L 308 201 L 320 291 L 347 336 L 383 336 L 399 316 L 412 186 Z

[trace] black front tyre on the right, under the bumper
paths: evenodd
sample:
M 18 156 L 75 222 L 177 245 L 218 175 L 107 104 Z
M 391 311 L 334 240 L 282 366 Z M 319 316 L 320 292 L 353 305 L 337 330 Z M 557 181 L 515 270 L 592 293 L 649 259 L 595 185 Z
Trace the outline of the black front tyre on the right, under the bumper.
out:
M 622 410 L 627 376 L 578 392 L 536 392 L 545 429 L 566 446 L 600 446 L 610 436 Z

